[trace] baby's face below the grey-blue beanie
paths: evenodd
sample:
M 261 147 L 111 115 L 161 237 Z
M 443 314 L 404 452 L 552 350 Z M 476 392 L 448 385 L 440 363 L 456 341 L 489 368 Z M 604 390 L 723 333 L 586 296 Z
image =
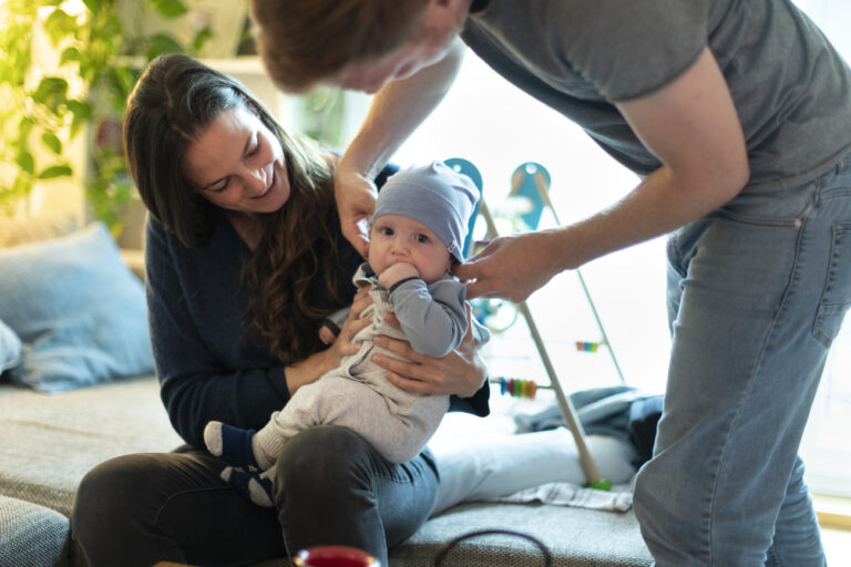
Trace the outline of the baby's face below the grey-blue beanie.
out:
M 442 278 L 451 266 L 447 246 L 426 225 L 401 215 L 383 215 L 370 230 L 369 265 L 381 275 L 394 264 L 417 268 L 426 284 Z

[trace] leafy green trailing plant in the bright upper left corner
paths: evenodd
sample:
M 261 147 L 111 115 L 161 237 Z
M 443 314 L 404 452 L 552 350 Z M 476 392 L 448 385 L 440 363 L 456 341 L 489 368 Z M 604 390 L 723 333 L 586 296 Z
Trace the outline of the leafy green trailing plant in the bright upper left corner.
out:
M 133 199 L 121 150 L 121 117 L 141 66 L 161 53 L 196 54 L 213 37 L 201 27 L 181 40 L 140 30 L 187 13 L 183 0 L 6 0 L 0 2 L 0 208 L 33 187 L 82 179 L 85 202 L 114 235 Z M 203 22 L 202 22 L 203 23 Z M 86 158 L 66 148 L 86 135 Z

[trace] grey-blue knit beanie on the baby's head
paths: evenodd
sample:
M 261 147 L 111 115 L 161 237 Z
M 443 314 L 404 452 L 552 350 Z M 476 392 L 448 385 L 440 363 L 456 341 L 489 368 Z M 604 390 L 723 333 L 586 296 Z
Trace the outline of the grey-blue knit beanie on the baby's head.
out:
M 440 238 L 459 262 L 479 189 L 465 175 L 442 162 L 411 166 L 390 176 L 381 187 L 372 221 L 383 215 L 419 220 Z

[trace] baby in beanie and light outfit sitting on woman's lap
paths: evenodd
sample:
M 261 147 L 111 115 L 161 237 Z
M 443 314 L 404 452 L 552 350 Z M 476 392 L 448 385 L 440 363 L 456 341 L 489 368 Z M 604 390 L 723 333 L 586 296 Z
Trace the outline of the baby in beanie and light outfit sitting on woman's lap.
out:
M 373 339 L 403 339 L 417 352 L 439 358 L 464 338 L 466 290 L 450 270 L 453 262 L 464 261 L 468 220 L 478 199 L 470 179 L 440 162 L 409 167 L 387 181 L 376 203 L 368 261 L 353 277 L 372 297 L 359 315 L 372 322 L 352 339 L 361 347 L 337 369 L 299 388 L 259 431 L 207 423 L 207 449 L 230 465 L 222 473 L 225 480 L 256 504 L 273 506 L 276 456 L 287 440 L 319 424 L 351 429 L 393 463 L 422 451 L 449 409 L 449 396 L 393 385 L 372 357 L 399 357 Z M 385 321 L 390 311 L 401 330 Z

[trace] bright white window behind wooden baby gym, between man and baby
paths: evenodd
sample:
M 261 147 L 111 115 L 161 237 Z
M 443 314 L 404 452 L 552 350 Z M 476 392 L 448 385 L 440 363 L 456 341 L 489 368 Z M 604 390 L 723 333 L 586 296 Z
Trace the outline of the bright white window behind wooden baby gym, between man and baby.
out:
M 522 163 L 536 162 L 548 171 L 550 195 L 563 224 L 611 205 L 638 183 L 582 128 L 513 86 L 473 53 L 468 53 L 463 64 L 447 99 L 394 159 L 404 164 L 463 157 L 475 164 L 501 234 L 513 231 L 505 217 L 516 204 L 505 197 L 512 172 Z M 544 215 L 541 226 L 547 224 L 553 220 Z M 670 344 L 665 270 L 664 238 L 582 268 L 627 382 L 652 392 L 664 391 Z M 530 307 L 566 390 L 618 382 L 603 349 L 594 354 L 580 353 L 573 344 L 601 339 L 575 274 L 557 276 L 530 299 Z M 526 332 L 522 319 L 514 327 L 512 331 Z M 527 350 L 529 360 L 536 363 L 536 353 L 531 347 Z M 543 369 L 540 378 L 547 383 Z

